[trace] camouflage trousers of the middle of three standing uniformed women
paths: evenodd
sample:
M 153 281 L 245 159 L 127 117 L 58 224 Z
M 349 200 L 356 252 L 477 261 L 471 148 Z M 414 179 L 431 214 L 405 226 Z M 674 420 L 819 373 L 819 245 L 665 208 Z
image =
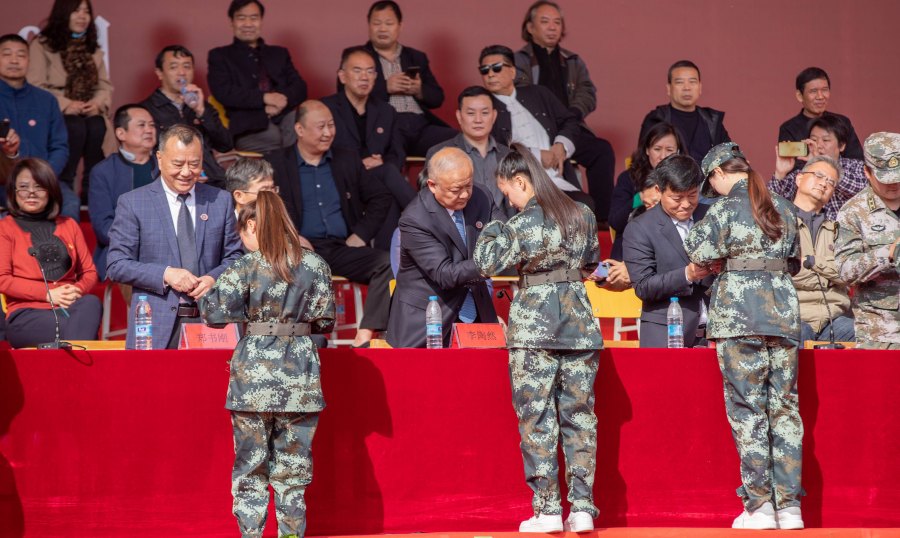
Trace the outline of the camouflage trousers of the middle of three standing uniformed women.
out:
M 593 486 L 597 460 L 596 350 L 509 350 L 513 408 L 519 417 L 525 481 L 534 514 L 562 514 L 557 443 L 562 430 L 566 485 L 573 512 L 599 515 Z M 557 407 L 559 421 L 557 422 Z

